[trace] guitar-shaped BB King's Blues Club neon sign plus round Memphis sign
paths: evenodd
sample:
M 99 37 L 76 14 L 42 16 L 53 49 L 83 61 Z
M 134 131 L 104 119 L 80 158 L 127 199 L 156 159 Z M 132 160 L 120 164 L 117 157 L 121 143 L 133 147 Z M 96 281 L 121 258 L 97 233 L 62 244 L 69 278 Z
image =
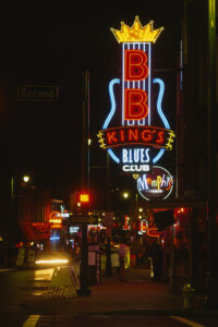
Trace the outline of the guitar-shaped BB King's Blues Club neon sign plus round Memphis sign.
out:
M 142 26 L 138 16 L 132 27 L 122 22 L 121 31 L 111 28 L 122 45 L 122 76 L 109 83 L 111 108 L 98 132 L 100 147 L 133 174 L 148 201 L 168 197 L 173 187 L 171 174 L 157 166 L 174 137 L 161 107 L 165 83 L 152 77 L 152 45 L 162 29 L 154 29 L 153 22 Z M 154 85 L 159 92 L 155 105 Z

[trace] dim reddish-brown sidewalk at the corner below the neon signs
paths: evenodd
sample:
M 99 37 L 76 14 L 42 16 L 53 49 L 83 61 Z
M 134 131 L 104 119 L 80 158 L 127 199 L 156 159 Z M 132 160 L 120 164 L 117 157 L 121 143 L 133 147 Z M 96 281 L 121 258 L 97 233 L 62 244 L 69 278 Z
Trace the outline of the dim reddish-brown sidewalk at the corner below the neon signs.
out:
M 71 299 L 36 296 L 23 308 L 31 314 L 74 315 L 74 314 L 208 314 L 204 308 L 204 298 L 193 296 L 193 308 L 183 308 L 181 293 L 173 294 L 167 282 L 156 282 L 149 270 L 134 267 L 125 270 L 125 281 L 118 272 L 102 278 L 102 282 L 90 287 L 90 296 Z M 218 315 L 218 311 L 210 312 Z

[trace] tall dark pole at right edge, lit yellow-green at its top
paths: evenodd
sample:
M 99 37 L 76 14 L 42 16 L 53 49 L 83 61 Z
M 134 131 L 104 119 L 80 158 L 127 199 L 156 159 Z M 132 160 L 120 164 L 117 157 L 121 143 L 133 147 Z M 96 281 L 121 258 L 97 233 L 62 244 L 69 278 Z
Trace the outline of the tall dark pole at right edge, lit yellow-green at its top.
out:
M 208 0 L 208 276 L 206 305 L 218 308 L 217 110 L 216 110 L 216 0 Z

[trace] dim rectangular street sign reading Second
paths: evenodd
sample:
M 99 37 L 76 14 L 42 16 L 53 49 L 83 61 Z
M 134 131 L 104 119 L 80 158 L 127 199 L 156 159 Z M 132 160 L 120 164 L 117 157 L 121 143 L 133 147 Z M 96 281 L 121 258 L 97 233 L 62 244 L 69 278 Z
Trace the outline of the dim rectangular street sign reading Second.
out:
M 58 99 L 57 86 L 19 85 L 17 100 L 22 101 L 56 101 Z

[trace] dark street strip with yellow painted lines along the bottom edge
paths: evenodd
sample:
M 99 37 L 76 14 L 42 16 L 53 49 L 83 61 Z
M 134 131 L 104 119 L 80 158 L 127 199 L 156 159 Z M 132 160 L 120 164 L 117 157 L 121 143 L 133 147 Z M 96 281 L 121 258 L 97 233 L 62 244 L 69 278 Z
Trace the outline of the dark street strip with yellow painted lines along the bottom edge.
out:
M 28 317 L 11 315 L 0 326 L 7 327 L 217 327 L 217 317 L 182 317 L 148 315 L 71 315 L 49 316 L 29 315 Z

